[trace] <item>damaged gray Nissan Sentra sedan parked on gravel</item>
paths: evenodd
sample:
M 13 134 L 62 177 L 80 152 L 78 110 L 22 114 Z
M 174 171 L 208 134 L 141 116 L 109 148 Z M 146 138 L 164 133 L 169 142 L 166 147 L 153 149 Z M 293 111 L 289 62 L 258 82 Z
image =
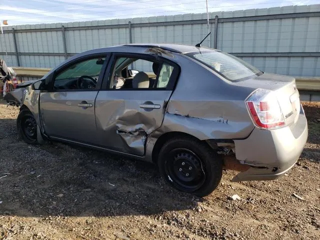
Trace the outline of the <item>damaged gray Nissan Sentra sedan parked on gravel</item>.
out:
M 282 176 L 307 139 L 294 77 L 198 45 L 85 51 L 5 99 L 20 108 L 25 142 L 61 141 L 153 162 L 169 185 L 197 196 L 218 186 L 222 169 L 239 171 L 232 181 Z

